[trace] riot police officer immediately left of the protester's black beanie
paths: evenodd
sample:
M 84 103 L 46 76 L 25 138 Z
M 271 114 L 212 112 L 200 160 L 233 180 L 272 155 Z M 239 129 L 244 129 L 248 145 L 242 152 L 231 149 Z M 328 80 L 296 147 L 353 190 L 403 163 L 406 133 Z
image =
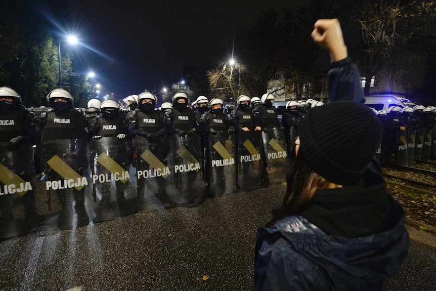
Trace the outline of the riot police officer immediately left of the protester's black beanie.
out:
M 286 109 L 282 115 L 282 126 L 285 131 L 285 140 L 289 151 L 293 147 L 294 138 L 298 136 L 298 127 L 300 124 L 300 114 L 298 113 L 299 104 L 295 100 L 286 103 Z

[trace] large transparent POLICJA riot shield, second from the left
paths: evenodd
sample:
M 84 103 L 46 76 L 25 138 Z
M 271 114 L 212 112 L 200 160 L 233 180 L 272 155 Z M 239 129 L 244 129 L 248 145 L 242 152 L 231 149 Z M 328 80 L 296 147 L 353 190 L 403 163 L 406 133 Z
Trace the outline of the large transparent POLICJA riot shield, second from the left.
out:
M 80 139 L 47 141 L 40 147 L 41 171 L 46 173 L 48 229 L 88 225 L 92 197 L 88 142 Z

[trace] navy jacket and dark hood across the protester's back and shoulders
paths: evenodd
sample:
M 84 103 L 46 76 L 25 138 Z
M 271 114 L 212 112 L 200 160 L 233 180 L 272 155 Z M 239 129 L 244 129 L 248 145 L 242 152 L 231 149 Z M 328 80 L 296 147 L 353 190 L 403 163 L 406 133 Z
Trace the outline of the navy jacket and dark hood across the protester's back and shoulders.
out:
M 320 189 L 298 215 L 259 228 L 255 290 L 384 290 L 407 255 L 404 220 L 371 170 L 357 185 Z

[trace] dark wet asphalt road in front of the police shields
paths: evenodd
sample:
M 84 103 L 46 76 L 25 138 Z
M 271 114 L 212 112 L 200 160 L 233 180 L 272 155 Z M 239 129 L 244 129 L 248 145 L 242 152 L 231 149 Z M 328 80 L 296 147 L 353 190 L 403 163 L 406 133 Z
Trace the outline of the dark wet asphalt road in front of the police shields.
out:
M 252 290 L 258 225 L 275 185 L 73 230 L 0 241 L 0 290 Z M 411 241 L 387 290 L 434 290 L 436 251 Z

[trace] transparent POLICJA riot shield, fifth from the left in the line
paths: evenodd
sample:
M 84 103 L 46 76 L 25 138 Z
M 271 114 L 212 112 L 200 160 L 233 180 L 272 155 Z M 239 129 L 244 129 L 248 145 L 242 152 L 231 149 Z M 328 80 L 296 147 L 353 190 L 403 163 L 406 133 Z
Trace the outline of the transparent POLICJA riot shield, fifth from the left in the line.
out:
M 180 206 L 198 205 L 204 199 L 200 137 L 172 135 L 170 140 L 173 184 L 169 193 Z

